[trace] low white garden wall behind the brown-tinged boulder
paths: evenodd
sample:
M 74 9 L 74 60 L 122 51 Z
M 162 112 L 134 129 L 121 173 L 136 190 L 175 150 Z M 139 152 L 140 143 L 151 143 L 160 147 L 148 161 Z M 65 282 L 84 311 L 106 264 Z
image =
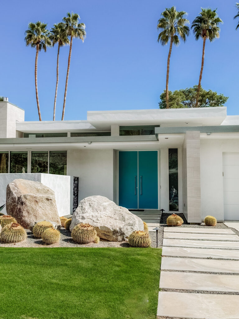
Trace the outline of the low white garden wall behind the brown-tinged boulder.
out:
M 42 173 L 18 173 L 18 174 L 0 174 L 0 206 L 6 203 L 7 185 L 15 179 L 25 179 L 29 181 L 40 182 L 55 192 L 55 199 L 59 216 L 68 215 L 71 208 L 71 177 L 65 175 L 42 174 Z M 2 210 L 6 213 L 6 208 Z

